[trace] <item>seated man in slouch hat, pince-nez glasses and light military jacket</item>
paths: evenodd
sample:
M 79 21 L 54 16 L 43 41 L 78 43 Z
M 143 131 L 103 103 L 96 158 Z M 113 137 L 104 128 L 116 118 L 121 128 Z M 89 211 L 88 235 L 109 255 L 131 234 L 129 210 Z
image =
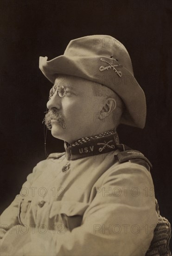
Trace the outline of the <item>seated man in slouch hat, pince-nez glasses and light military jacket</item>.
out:
M 159 220 L 151 163 L 116 132 L 146 121 L 126 48 L 85 36 L 39 67 L 53 84 L 45 124 L 65 152 L 39 162 L 2 213 L 2 255 L 149 255 Z

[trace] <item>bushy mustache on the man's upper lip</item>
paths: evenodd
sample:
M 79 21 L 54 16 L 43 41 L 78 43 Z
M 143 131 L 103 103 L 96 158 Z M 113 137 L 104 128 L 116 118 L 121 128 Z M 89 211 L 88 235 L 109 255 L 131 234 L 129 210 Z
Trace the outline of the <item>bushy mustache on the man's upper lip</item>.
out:
M 57 121 L 64 129 L 66 129 L 63 113 L 57 113 L 54 110 L 48 110 L 43 120 L 43 123 L 46 125 L 48 130 L 52 129 L 51 120 Z

